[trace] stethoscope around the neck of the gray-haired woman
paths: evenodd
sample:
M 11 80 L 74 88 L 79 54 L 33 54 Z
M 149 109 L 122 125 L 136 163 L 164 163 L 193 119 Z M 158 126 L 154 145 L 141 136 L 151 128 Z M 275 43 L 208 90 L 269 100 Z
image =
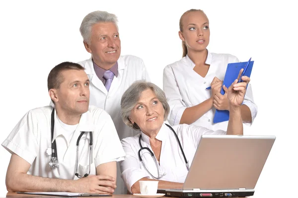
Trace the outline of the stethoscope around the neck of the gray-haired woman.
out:
M 164 123 L 164 124 L 165 124 L 165 123 Z M 186 157 L 185 157 L 185 154 L 184 154 L 184 152 L 183 152 L 183 149 L 182 149 L 181 143 L 180 143 L 180 141 L 179 141 L 178 135 L 176 134 L 176 132 L 173 130 L 173 128 L 172 128 L 171 126 L 169 126 L 169 125 L 167 125 L 167 124 L 165 124 L 165 125 L 166 125 L 168 128 L 170 128 L 170 130 L 175 134 L 175 137 L 176 137 L 177 142 L 178 142 L 178 144 L 179 144 L 179 147 L 180 147 L 180 150 L 181 150 L 181 152 L 182 152 L 182 155 L 183 155 L 183 158 L 184 158 L 184 161 L 185 161 L 185 164 L 186 164 L 186 168 L 187 168 L 187 171 L 188 171 L 188 170 L 189 170 L 188 161 L 187 161 L 187 159 L 186 159 Z M 143 147 L 143 146 L 142 146 L 142 144 L 141 144 L 141 138 L 142 138 L 142 133 L 140 133 L 140 137 L 139 137 L 139 144 L 140 144 L 140 147 L 141 147 L 141 149 L 140 149 L 139 152 L 138 152 L 139 159 L 140 159 L 141 163 L 143 164 L 143 167 L 144 167 L 144 168 L 146 169 L 146 171 L 149 173 L 149 175 L 150 175 L 152 178 L 158 180 L 158 179 L 162 178 L 163 176 L 165 176 L 165 173 L 162 174 L 162 175 L 160 176 L 160 174 L 159 174 L 159 169 L 158 169 L 158 165 L 157 165 L 157 161 L 156 161 L 156 158 L 155 158 L 155 156 L 154 156 L 154 153 L 153 153 L 148 147 Z M 154 176 L 149 172 L 149 170 L 146 168 L 146 166 L 145 166 L 145 164 L 144 164 L 144 162 L 143 162 L 143 159 L 141 158 L 141 151 L 142 151 L 143 149 L 148 150 L 149 153 L 151 154 L 151 157 L 153 158 L 154 163 L 155 163 L 155 166 L 156 166 L 156 169 L 157 169 L 157 174 L 158 174 L 157 177 L 154 177 Z

